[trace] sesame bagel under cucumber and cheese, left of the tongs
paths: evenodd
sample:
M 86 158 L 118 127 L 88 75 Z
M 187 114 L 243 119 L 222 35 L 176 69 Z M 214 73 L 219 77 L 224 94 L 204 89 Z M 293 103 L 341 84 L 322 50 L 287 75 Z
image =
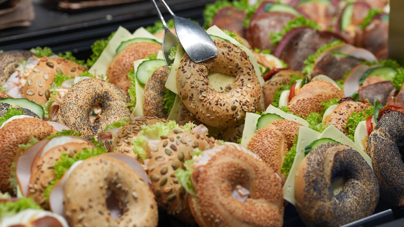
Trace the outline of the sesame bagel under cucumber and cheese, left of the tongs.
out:
M 133 61 L 157 54 L 161 48 L 160 44 L 150 42 L 129 44 L 117 53 L 109 63 L 106 74 L 107 78 L 111 83 L 118 86 L 125 95 L 128 95 L 128 89 L 130 88 L 128 73 L 133 68 Z

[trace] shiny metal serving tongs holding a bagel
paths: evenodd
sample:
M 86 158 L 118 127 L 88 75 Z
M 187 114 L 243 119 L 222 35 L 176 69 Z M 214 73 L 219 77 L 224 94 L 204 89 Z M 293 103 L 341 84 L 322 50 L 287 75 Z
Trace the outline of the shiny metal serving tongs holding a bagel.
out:
M 188 19 L 178 17 L 173 13 L 173 11 L 171 11 L 170 7 L 168 7 L 164 0 L 160 0 L 160 2 L 167 9 L 168 13 L 170 13 L 170 15 L 174 18 L 174 27 L 178 36 L 177 37 L 168 29 L 167 23 L 164 21 L 156 1 L 151 0 L 151 2 L 153 2 L 154 6 L 156 7 L 158 16 L 160 17 L 160 20 L 164 26 L 162 48 L 164 61 L 166 61 L 167 65 L 171 65 L 171 63 L 173 63 L 173 60 L 169 59 L 168 56 L 170 55 L 171 48 L 175 46 L 177 42 L 181 43 L 185 52 L 194 62 L 205 61 L 217 56 L 217 48 L 215 44 L 202 27 Z

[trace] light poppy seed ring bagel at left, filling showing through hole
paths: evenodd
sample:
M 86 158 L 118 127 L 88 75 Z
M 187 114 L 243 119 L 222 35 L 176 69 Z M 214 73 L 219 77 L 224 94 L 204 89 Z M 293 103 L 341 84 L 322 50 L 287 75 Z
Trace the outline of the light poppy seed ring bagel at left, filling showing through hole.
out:
M 92 123 L 90 117 L 94 117 L 92 112 L 97 105 L 101 112 L 96 113 L 99 118 L 92 118 Z M 129 115 L 126 97 L 118 87 L 105 80 L 91 78 L 80 80 L 66 92 L 60 103 L 57 121 L 90 140 L 97 137 L 107 124 L 129 118 Z

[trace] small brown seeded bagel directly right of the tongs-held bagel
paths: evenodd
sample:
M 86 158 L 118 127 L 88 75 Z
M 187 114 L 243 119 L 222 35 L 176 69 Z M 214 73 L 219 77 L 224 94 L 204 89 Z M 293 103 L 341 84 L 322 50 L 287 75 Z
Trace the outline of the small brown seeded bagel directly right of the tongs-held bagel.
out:
M 265 81 L 264 85 L 262 86 L 265 97 L 265 106 L 269 106 L 272 102 L 274 102 L 275 92 L 280 86 L 290 83 L 290 75 L 303 76 L 301 71 L 286 69 L 279 71 L 269 80 Z

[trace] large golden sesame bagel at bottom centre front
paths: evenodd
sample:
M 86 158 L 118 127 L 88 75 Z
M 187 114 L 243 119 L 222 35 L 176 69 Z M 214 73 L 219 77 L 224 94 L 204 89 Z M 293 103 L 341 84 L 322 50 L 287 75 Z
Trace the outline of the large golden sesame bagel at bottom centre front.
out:
M 196 197 L 189 204 L 199 226 L 282 226 L 282 185 L 274 171 L 239 145 L 205 153 L 212 150 L 216 154 L 192 173 Z M 243 191 L 247 198 L 238 200 Z

